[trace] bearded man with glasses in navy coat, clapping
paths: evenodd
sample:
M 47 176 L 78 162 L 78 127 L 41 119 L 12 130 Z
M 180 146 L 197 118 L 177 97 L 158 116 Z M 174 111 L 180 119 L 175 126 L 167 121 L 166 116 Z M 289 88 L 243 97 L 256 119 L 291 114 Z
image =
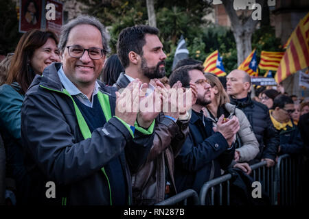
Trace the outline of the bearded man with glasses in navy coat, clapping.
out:
M 236 116 L 220 116 L 216 128 L 206 118 L 202 108 L 211 103 L 211 86 L 203 74 L 201 64 L 185 65 L 176 68 L 170 75 L 170 86 L 181 81 L 184 87 L 192 80 L 197 87 L 198 97 L 192 105 L 189 135 L 181 152 L 175 159 L 175 182 L 179 192 L 194 189 L 200 192 L 203 184 L 221 175 L 233 159 L 235 149 L 233 137 L 239 129 Z

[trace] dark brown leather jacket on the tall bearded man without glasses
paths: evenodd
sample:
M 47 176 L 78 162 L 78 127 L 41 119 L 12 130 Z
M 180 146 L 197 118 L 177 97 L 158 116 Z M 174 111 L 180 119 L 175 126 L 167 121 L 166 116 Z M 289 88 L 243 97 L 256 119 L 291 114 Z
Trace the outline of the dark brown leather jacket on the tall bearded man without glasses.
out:
M 126 88 L 130 81 L 121 73 L 115 87 Z M 171 183 L 171 194 L 176 194 L 174 183 L 174 157 L 179 154 L 185 141 L 188 121 L 177 123 L 160 113 L 155 119 L 155 138 L 145 164 L 138 172 L 132 174 L 133 201 L 135 205 L 153 205 L 164 200 L 165 167 L 168 168 L 168 180 Z

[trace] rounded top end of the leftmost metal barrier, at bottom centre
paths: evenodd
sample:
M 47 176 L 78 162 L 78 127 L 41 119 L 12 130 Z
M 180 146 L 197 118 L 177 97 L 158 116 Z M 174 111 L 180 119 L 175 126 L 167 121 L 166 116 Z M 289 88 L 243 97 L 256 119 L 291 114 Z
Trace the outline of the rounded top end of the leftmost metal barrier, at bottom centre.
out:
M 160 203 L 157 203 L 155 205 L 175 205 L 176 203 L 183 202 L 183 205 L 187 205 L 187 198 L 193 198 L 193 205 L 199 205 L 200 201 L 198 199 L 198 194 L 195 190 L 185 190 L 183 192 L 179 192 L 179 194 L 176 194 L 170 198 L 165 199 L 164 201 L 161 201 Z

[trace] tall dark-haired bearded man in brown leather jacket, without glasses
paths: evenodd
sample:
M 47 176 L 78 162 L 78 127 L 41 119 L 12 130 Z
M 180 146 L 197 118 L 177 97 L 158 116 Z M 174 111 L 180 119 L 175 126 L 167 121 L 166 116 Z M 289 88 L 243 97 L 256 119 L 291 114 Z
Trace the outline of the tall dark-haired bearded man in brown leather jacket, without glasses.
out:
M 147 88 L 146 96 L 155 96 L 157 88 L 167 91 L 158 80 L 165 76 L 166 58 L 158 33 L 157 28 L 147 25 L 128 27 L 121 31 L 117 55 L 125 73 L 119 75 L 115 87 L 126 88 L 130 81 L 139 79 L 143 88 Z M 156 88 L 150 84 L 150 79 L 155 79 Z M 181 88 L 181 83 L 177 82 L 174 88 Z M 195 89 L 193 83 L 192 88 Z M 168 108 L 172 109 L 170 96 L 166 99 Z M 174 157 L 178 155 L 188 133 L 188 120 L 179 120 L 180 112 L 181 109 L 177 108 L 176 112 L 145 112 L 137 115 L 137 123 L 144 129 L 155 119 L 155 139 L 144 166 L 137 172 L 132 171 L 135 205 L 153 205 L 176 194 Z M 143 123 L 147 120 L 148 123 Z

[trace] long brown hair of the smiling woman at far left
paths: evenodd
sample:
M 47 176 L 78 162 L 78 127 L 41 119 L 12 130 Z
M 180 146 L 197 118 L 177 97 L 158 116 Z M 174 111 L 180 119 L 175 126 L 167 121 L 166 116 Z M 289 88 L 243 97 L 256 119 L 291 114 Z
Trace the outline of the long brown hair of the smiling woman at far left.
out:
M 14 51 L 6 83 L 11 84 L 16 81 L 25 94 L 35 76 L 30 67 L 30 59 L 34 51 L 42 47 L 49 38 L 58 44 L 58 38 L 52 31 L 32 29 L 23 34 Z

